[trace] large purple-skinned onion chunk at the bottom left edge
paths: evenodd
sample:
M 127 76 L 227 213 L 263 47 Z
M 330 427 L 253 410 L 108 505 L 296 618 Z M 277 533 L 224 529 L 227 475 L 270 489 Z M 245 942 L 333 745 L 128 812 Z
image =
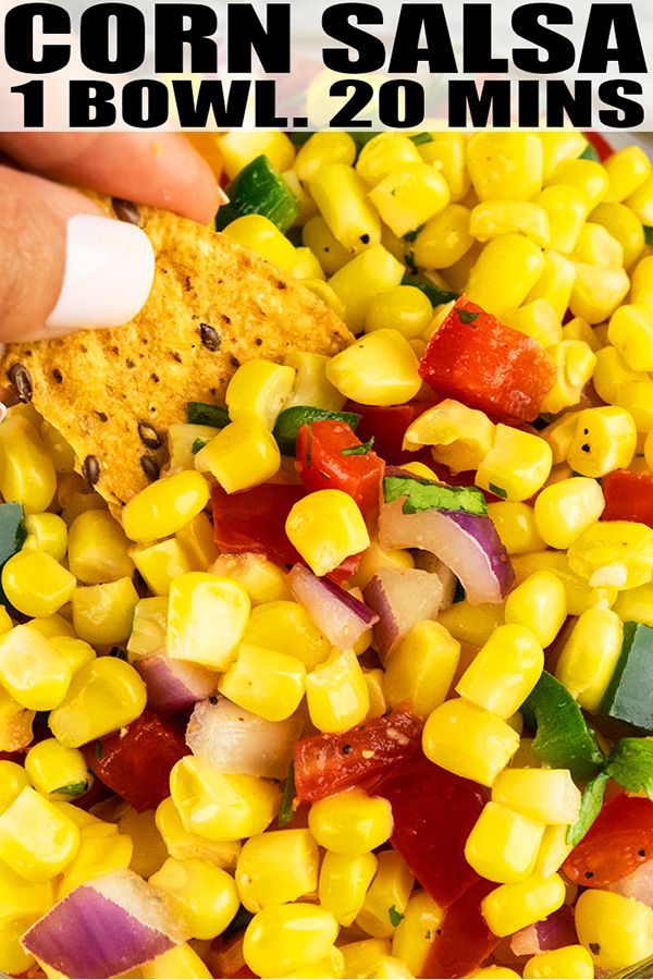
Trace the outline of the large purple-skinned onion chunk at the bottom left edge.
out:
M 23 936 L 25 948 L 65 977 L 114 977 L 185 943 L 170 898 L 134 871 L 78 885 Z

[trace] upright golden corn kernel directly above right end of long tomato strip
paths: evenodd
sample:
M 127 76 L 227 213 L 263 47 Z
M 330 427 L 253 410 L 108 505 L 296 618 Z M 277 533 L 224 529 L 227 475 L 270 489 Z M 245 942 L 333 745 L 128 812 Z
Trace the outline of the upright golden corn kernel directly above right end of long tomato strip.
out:
M 441 623 L 416 623 L 394 647 L 383 689 L 392 707 L 410 701 L 427 718 L 442 705 L 454 679 L 460 644 Z

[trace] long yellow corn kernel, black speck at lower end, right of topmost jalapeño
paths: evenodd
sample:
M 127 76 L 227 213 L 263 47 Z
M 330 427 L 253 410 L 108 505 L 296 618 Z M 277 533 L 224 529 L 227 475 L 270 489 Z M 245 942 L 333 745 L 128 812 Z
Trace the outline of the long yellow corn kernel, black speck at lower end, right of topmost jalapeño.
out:
M 328 163 L 310 182 L 310 193 L 337 241 L 352 254 L 381 241 L 381 222 L 359 174 L 344 163 Z

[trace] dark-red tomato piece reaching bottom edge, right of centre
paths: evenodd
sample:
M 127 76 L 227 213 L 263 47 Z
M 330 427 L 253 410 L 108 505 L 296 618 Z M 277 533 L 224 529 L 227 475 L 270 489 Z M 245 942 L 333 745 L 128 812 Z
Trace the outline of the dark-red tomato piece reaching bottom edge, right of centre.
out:
M 481 902 L 495 889 L 479 879 L 444 914 L 429 950 L 422 977 L 468 977 L 498 944 L 481 915 Z

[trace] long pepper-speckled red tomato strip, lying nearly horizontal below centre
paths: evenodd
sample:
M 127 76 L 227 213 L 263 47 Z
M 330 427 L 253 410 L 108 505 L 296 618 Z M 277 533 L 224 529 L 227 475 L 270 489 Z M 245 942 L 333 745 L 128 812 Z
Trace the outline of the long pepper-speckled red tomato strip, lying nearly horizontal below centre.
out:
M 295 793 L 316 800 L 370 783 L 418 751 L 422 722 L 409 711 L 393 711 L 347 732 L 311 735 L 295 746 Z

